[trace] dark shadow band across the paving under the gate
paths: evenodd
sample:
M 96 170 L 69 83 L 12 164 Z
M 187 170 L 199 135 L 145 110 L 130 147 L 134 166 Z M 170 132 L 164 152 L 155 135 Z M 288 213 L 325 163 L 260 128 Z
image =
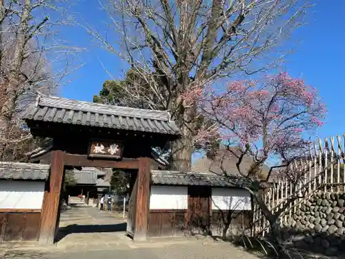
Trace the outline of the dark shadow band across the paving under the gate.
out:
M 111 233 L 126 231 L 127 223 L 118 224 L 90 224 L 90 225 L 79 225 L 70 224 L 67 227 L 60 227 L 55 238 L 55 242 L 59 242 L 66 236 L 72 233 Z

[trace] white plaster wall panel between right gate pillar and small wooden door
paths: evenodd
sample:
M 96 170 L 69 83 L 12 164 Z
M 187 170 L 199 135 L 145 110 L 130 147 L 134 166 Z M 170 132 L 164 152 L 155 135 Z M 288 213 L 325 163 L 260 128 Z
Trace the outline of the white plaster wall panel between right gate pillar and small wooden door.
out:
M 151 186 L 150 209 L 188 209 L 188 187 Z

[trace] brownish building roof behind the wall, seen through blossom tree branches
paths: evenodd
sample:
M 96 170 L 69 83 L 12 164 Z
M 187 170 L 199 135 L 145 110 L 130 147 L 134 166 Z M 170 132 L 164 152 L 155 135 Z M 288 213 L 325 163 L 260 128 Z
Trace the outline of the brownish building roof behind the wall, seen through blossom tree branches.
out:
M 192 171 L 213 174 L 224 174 L 226 172 L 227 175 L 243 176 L 239 173 L 236 162 L 237 157 L 233 153 L 225 149 L 219 149 L 213 159 L 205 156 L 195 161 L 192 164 Z M 246 172 L 250 169 L 251 164 L 253 164 L 252 158 L 244 156 L 239 168 L 241 171 Z M 267 175 L 268 171 L 268 166 L 262 166 L 262 175 Z

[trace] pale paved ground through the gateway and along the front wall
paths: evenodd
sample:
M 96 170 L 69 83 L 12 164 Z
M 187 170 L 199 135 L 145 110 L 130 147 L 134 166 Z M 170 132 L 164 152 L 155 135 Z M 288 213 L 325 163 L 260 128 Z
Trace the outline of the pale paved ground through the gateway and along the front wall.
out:
M 58 242 L 0 246 L 1 259 L 257 259 L 228 242 L 210 238 L 158 238 L 133 242 L 126 236 L 126 220 L 92 207 L 72 207 L 61 213 Z

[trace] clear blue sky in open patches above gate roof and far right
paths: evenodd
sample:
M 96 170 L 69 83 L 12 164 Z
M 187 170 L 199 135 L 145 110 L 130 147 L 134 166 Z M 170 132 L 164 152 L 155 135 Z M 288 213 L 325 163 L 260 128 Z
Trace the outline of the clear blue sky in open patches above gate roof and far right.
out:
M 307 84 L 317 88 L 326 103 L 326 124 L 317 131 L 319 137 L 335 136 L 345 133 L 345 87 L 342 76 L 345 75 L 345 1 L 317 1 L 313 12 L 308 17 L 310 23 L 299 28 L 295 39 L 301 41 L 296 52 L 288 57 L 282 69 L 291 75 L 302 77 Z M 103 12 L 98 1 L 80 1 L 73 8 L 77 18 L 85 20 L 92 17 L 92 26 L 104 28 Z M 99 93 L 106 79 L 106 67 L 115 78 L 124 75 L 124 64 L 116 55 L 109 54 L 86 33 L 83 28 L 64 28 L 61 33 L 70 44 L 87 48 L 80 61 L 85 65 L 79 69 L 70 84 L 61 88 L 59 95 L 83 101 L 92 101 L 92 96 Z M 103 63 L 103 65 L 101 64 Z M 103 67 L 104 66 L 104 67 Z M 316 136 L 315 136 L 316 137 Z

